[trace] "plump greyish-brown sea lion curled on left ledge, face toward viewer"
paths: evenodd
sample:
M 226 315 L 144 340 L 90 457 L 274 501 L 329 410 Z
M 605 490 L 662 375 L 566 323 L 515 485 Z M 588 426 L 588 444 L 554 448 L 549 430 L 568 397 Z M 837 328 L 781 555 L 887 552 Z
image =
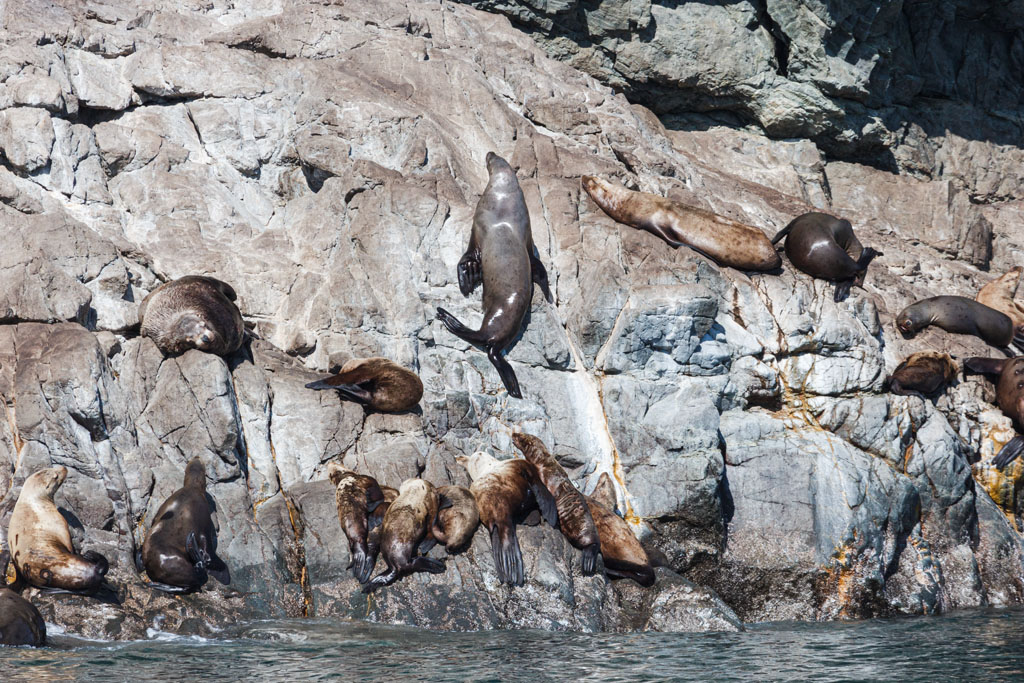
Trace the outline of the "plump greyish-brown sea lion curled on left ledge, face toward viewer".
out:
M 245 339 L 242 313 L 230 285 L 205 275 L 185 275 L 150 292 L 138 307 L 140 332 L 165 354 L 198 348 L 232 353 Z

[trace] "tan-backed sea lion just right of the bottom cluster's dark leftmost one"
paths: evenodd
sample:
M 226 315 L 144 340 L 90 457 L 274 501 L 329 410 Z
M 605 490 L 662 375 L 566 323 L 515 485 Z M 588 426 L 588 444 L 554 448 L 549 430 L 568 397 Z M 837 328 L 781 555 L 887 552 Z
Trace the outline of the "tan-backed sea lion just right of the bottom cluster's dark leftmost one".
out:
M 367 584 L 364 593 L 373 593 L 415 571 L 443 573 L 443 560 L 418 555 L 421 550 L 433 546 L 430 529 L 437 516 L 437 490 L 432 483 L 423 479 L 402 482 L 398 497 L 384 514 L 381 530 L 381 554 L 388 569 Z

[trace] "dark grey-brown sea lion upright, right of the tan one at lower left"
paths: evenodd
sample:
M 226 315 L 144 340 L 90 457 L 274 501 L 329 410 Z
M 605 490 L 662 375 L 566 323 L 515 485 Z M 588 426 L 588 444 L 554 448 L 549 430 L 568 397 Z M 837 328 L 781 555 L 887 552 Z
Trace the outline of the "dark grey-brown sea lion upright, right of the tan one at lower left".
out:
M 206 467 L 197 456 L 185 466 L 181 488 L 167 497 L 135 554 L 135 567 L 145 569 L 150 588 L 165 593 L 191 593 L 208 574 L 222 584 L 230 577 L 217 557 L 217 531 L 206 497 Z

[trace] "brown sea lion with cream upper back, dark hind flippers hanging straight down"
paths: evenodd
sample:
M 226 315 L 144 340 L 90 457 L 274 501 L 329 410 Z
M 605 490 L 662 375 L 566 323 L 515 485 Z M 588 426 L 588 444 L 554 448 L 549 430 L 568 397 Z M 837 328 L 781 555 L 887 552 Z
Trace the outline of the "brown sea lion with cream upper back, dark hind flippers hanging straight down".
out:
M 477 452 L 470 457 L 456 458 L 469 472 L 473 483 L 469 489 L 480 511 L 480 523 L 490 532 L 490 553 L 495 558 L 498 581 L 510 586 L 522 586 L 525 573 L 522 550 L 515 535 L 515 525 L 535 509 L 540 509 L 551 526 L 558 524 L 555 499 L 544 485 L 537 467 L 525 460 L 498 461 Z

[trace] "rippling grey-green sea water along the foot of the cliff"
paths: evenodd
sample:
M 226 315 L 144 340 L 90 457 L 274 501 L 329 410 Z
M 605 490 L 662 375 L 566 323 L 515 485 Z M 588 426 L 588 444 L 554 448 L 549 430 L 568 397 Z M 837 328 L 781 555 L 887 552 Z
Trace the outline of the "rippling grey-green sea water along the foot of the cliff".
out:
M 1021 609 L 734 634 L 452 634 L 303 620 L 240 625 L 216 639 L 52 641 L 0 649 L 0 681 L 1024 681 Z

